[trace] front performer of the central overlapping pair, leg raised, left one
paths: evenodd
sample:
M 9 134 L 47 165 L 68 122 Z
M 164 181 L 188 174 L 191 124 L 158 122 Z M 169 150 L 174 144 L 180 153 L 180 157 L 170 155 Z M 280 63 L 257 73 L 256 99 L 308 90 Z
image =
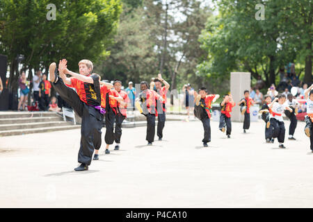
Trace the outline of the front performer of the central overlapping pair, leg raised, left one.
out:
M 163 102 L 163 99 L 154 90 L 148 89 L 147 82 L 141 82 L 141 93 L 136 99 L 136 108 L 141 114 L 147 117 L 147 135 L 148 145 L 152 145 L 155 135 L 155 117 L 158 116 L 156 100 Z

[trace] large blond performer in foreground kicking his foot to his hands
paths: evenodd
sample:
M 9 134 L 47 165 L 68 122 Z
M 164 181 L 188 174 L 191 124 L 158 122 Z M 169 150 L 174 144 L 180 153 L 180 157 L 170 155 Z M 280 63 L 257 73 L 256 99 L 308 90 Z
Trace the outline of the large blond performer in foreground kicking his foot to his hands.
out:
M 91 163 L 95 148 L 101 146 L 101 129 L 103 111 L 101 109 L 101 93 L 99 75 L 90 75 L 93 62 L 81 60 L 79 74 L 67 69 L 67 61 L 61 60 L 58 65 L 59 75 L 56 74 L 56 63 L 49 66 L 50 81 L 56 92 L 81 117 L 81 145 L 79 148 L 79 167 L 75 171 L 86 171 Z M 72 78 L 67 78 L 70 74 Z M 65 83 L 69 86 L 67 87 Z M 75 92 L 70 87 L 76 89 Z

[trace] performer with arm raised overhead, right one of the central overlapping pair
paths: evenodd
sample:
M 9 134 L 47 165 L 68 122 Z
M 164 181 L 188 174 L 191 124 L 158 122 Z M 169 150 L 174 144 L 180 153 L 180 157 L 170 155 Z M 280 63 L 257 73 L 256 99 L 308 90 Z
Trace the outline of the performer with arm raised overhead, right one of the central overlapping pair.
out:
M 164 84 L 163 87 L 162 83 Z M 162 140 L 163 128 L 166 121 L 166 94 L 168 92 L 168 89 L 170 89 L 170 84 L 168 84 L 168 82 L 166 82 L 166 80 L 162 78 L 161 74 L 159 74 L 158 78 L 154 78 L 154 81 L 152 82 L 152 84 L 150 84 L 150 89 L 154 89 L 154 91 L 156 91 L 163 99 L 162 103 L 160 101 L 156 101 L 158 111 L 157 136 L 159 137 L 159 140 Z

